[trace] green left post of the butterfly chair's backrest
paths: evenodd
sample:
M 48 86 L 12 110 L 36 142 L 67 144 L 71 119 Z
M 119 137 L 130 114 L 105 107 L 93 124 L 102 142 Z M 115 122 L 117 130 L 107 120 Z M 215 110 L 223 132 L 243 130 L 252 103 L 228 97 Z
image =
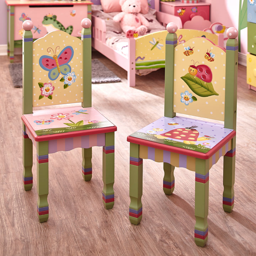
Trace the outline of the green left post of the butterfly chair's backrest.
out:
M 13 33 L 13 32 L 11 32 Z M 23 38 L 33 38 L 31 31 L 24 31 Z M 33 43 L 22 44 L 22 114 L 33 112 Z

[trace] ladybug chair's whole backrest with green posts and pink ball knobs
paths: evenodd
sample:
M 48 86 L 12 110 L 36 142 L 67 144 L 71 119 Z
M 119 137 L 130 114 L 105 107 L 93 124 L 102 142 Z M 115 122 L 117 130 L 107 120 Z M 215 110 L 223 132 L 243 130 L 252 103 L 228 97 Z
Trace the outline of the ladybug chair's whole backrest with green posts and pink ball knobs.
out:
M 177 26 L 167 25 L 165 116 L 176 112 L 236 126 L 238 31 L 229 28 L 226 51 L 196 37 L 177 45 Z

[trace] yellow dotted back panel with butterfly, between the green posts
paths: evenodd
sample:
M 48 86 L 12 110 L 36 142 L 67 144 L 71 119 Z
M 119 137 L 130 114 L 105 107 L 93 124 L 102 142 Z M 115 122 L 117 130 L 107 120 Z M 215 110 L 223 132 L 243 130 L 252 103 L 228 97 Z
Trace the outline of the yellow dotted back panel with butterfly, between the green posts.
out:
M 83 101 L 82 41 L 53 31 L 33 43 L 33 107 Z

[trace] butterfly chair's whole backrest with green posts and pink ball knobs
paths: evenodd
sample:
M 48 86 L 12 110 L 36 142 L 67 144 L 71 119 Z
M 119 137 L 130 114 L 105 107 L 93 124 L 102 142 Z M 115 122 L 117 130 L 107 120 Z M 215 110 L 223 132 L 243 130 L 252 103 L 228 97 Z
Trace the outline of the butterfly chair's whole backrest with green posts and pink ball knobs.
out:
M 23 114 L 76 102 L 91 107 L 91 21 L 81 26 L 81 39 L 53 31 L 33 42 L 33 23 L 23 22 Z

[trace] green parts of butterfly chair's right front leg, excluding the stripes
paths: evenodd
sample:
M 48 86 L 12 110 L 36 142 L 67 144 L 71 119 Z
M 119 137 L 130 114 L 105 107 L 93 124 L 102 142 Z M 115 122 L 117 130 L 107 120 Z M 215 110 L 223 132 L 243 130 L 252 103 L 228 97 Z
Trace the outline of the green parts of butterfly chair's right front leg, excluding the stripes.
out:
M 105 134 L 105 145 L 114 145 L 114 132 Z M 114 153 L 106 154 L 102 152 L 102 180 L 102 193 L 104 193 L 105 196 L 114 194 Z M 114 206 L 114 202 L 105 203 L 104 200 L 103 204 L 106 209 L 111 209 Z

